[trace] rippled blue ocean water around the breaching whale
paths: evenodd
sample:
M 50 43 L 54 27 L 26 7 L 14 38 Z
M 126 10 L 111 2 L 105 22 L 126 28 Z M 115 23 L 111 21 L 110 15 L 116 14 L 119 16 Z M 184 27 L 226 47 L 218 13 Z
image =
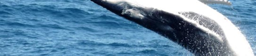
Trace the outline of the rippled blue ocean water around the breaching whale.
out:
M 256 0 L 213 4 L 256 54 Z M 193 56 L 90 0 L 0 0 L 0 56 Z

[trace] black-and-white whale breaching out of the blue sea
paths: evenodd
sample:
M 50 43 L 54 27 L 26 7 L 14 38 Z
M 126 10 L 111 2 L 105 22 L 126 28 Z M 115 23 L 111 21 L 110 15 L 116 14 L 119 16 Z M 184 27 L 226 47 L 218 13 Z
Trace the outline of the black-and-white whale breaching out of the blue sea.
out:
M 195 56 L 254 56 L 245 36 L 227 17 L 204 4 L 208 1 L 91 1 L 165 36 Z

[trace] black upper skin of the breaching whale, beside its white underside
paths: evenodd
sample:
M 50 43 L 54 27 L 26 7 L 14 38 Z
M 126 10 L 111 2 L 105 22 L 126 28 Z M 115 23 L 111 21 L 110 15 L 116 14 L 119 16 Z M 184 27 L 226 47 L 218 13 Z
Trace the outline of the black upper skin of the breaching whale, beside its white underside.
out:
M 199 22 L 199 24 L 205 24 L 203 25 L 204 27 L 215 31 L 222 37 L 222 41 L 218 40 L 215 35 L 206 33 L 194 24 L 191 24 L 191 22 L 185 21 L 179 15 L 150 7 L 134 6 L 128 2 L 111 4 L 103 0 L 91 1 L 127 20 L 134 21 L 145 28 L 165 36 L 173 42 L 180 44 L 196 56 L 236 56 L 227 43 L 225 35 L 223 35 L 223 30 L 219 25 L 203 15 L 200 15 L 203 16 L 201 17 L 203 19 L 201 21 L 206 22 Z M 124 14 L 124 11 L 128 9 L 132 10 L 132 12 L 139 12 L 144 17 L 130 16 L 131 14 L 129 13 L 132 12 L 129 11 Z M 183 12 L 180 14 L 190 14 L 191 16 L 199 15 L 193 12 Z

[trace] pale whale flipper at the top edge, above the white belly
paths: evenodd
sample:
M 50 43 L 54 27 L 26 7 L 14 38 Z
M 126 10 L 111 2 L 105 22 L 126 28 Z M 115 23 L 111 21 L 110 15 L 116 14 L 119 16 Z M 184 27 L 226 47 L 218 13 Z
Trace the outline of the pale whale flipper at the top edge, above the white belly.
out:
M 231 5 L 231 2 L 228 0 L 199 0 L 205 4 L 224 4 Z

